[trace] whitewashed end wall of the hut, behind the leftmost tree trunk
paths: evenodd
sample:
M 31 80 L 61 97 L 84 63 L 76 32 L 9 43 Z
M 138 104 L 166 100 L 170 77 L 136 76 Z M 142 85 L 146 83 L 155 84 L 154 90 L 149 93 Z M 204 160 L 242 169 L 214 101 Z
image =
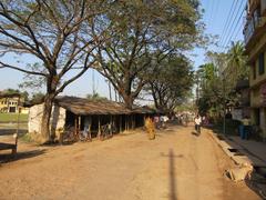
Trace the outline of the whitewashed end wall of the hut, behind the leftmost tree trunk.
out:
M 43 104 L 35 104 L 29 111 L 29 132 L 41 132 L 41 119 L 43 112 Z M 65 123 L 65 109 L 54 106 L 51 114 L 51 130 L 63 128 Z

